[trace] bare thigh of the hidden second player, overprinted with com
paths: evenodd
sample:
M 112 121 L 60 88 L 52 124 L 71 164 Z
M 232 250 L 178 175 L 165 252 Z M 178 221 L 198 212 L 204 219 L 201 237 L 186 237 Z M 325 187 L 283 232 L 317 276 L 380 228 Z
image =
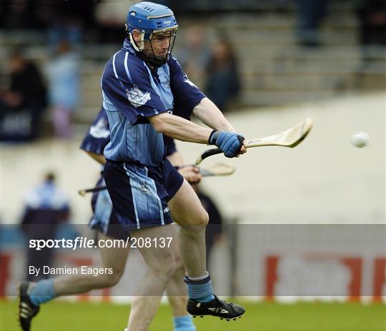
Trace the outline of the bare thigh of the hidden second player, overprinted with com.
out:
M 125 248 L 122 245 L 124 243 L 123 240 L 120 240 L 120 242 L 118 242 L 117 239 L 114 239 L 102 233 L 98 233 L 98 240 L 99 244 L 102 244 L 99 245 L 99 252 L 102 256 L 102 263 L 104 265 L 104 268 L 112 268 L 114 270 L 114 273 L 122 274 L 126 265 L 130 245 Z M 112 245 L 112 247 L 102 247 L 106 246 L 107 243 L 109 243 L 108 246 Z

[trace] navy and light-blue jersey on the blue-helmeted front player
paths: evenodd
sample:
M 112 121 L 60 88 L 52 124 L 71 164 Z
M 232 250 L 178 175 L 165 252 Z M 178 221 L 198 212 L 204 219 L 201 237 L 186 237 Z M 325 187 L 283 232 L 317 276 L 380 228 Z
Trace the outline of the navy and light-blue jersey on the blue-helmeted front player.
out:
M 205 97 L 175 58 L 152 71 L 128 39 L 107 62 L 101 84 L 111 130 L 104 156 L 145 166 L 161 165 L 166 155 L 162 133 L 147 118 L 164 112 L 189 118 Z

